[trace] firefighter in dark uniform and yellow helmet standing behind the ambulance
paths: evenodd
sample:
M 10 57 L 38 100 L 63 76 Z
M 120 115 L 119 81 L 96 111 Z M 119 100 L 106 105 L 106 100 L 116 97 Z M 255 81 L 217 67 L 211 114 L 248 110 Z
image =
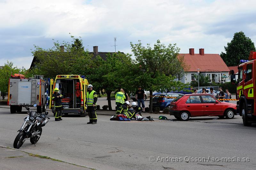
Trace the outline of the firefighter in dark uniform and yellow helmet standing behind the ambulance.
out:
M 59 93 L 59 89 L 55 88 L 54 93 L 52 95 L 52 100 L 54 101 L 54 108 L 55 108 L 55 121 L 60 121 L 62 115 L 62 104 L 61 99 L 63 96 Z

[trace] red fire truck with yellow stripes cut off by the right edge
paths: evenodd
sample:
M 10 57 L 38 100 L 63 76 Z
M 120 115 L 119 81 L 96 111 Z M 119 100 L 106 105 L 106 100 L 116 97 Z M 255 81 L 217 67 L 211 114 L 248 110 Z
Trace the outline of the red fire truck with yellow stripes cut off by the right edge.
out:
M 242 116 L 244 126 L 256 123 L 256 52 L 251 51 L 249 60 L 240 60 L 238 79 L 230 70 L 231 83 L 236 84 L 237 114 Z

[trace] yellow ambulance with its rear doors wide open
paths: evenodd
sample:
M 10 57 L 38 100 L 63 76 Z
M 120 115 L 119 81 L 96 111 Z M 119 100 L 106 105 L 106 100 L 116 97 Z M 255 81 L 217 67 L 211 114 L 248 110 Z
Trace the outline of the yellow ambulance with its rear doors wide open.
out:
M 62 106 L 63 114 L 68 113 L 80 114 L 85 116 L 85 99 L 87 93 L 87 86 L 89 85 L 87 79 L 81 75 L 57 75 L 55 80 L 50 80 L 50 109 L 55 114 L 54 102 L 52 95 L 54 89 L 58 88 L 59 93 L 63 96 Z

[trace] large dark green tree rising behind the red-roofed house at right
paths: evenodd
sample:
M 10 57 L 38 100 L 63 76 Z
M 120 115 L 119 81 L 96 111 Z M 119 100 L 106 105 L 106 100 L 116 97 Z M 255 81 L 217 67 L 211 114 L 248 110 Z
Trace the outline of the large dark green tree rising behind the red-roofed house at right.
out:
M 221 52 L 220 57 L 227 66 L 237 66 L 241 59 L 248 59 L 250 51 L 255 51 L 254 43 L 242 31 L 235 33 L 231 42 L 224 48 L 226 53 Z

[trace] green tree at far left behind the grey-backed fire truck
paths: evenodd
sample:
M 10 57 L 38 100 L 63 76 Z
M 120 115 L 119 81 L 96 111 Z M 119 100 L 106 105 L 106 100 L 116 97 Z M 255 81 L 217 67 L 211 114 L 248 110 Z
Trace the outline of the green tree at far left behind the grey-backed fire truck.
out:
M 24 72 L 24 69 L 21 70 L 17 67 L 13 67 L 13 63 L 9 62 L 8 60 L 7 60 L 7 63 L 4 63 L 4 67 L 0 69 L 0 91 L 3 97 L 3 100 L 6 93 L 8 92 L 9 78 L 11 77 L 12 74 L 20 73 L 21 71 Z

